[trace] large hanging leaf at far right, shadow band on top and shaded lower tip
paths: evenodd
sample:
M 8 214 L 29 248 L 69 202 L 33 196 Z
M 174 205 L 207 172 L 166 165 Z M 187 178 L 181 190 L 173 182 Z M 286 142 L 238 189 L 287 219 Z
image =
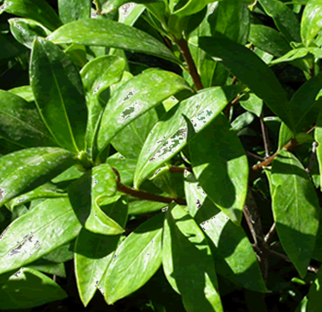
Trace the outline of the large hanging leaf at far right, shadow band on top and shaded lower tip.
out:
M 287 256 L 303 278 L 318 232 L 318 197 L 303 165 L 284 150 L 273 162 L 272 184 L 276 231 Z

